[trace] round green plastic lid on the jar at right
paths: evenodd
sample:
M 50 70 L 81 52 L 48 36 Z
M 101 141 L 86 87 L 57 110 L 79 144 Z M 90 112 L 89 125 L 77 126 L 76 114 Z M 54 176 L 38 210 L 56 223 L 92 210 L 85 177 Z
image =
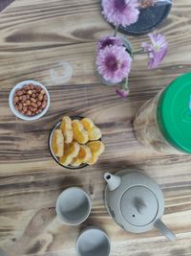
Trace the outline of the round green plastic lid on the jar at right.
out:
M 191 73 L 162 92 L 157 119 L 165 139 L 178 150 L 191 153 Z

